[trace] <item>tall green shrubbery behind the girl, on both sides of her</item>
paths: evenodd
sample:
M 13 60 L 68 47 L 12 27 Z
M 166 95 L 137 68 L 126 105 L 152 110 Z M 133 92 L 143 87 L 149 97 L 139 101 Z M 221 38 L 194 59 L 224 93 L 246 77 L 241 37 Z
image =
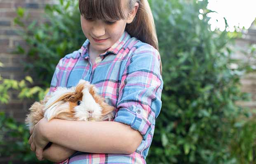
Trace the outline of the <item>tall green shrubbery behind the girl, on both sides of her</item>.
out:
M 249 112 L 235 104 L 248 96 L 239 89 L 243 70 L 229 68 L 235 62 L 231 59 L 233 51 L 227 46 L 232 40 L 226 32 L 209 30 L 206 1 L 149 2 L 159 38 L 164 89 L 147 162 L 252 162 L 255 144 L 249 143 L 254 141 L 256 130 L 246 119 Z M 203 20 L 198 18 L 199 9 L 204 9 Z M 38 78 L 45 78 L 44 84 L 49 87 L 59 59 L 80 48 L 85 36 L 77 1 L 60 0 L 60 5 L 47 6 L 45 10 L 49 23 L 24 26 L 19 21 L 25 19 L 23 9 L 19 9 L 16 23 L 24 28 L 21 35 L 29 45 L 28 51 L 18 49 L 33 59 L 27 68 L 35 69 Z

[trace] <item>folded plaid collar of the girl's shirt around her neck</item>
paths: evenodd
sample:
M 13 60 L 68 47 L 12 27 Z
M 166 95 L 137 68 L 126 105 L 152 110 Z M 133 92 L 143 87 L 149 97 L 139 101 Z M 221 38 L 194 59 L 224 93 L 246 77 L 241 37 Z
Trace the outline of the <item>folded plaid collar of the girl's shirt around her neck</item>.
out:
M 117 55 L 117 53 L 122 49 L 122 47 L 124 46 L 124 44 L 131 38 L 131 36 L 124 31 L 124 33 L 122 34 L 122 36 L 120 37 L 120 39 L 118 39 L 118 41 L 113 44 L 113 46 L 111 46 L 110 48 L 108 48 L 106 50 L 106 52 L 102 53 L 100 56 L 104 56 L 107 55 L 109 53 L 113 53 L 114 55 Z M 88 58 L 89 57 L 89 39 L 87 39 L 85 41 L 85 43 L 83 43 L 82 47 L 78 50 L 78 52 L 80 52 L 80 56 L 84 57 L 84 58 Z

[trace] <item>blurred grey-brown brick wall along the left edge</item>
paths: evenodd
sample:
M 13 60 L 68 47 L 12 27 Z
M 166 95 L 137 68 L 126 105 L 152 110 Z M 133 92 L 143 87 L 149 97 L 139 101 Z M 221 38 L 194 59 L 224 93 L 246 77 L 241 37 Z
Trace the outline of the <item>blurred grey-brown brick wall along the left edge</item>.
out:
M 0 62 L 4 67 L 0 68 L 3 78 L 22 80 L 29 73 L 24 73 L 22 61 L 26 58 L 23 55 L 14 54 L 15 46 L 24 45 L 21 37 L 16 33 L 19 27 L 14 25 L 16 9 L 26 8 L 32 19 L 43 21 L 40 15 L 46 4 L 53 4 L 56 0 L 0 0 Z M 31 75 L 31 74 L 30 74 Z M 19 100 L 17 91 L 10 91 L 10 102 L 7 105 L 0 104 L 0 111 L 5 111 L 14 116 L 17 121 L 23 121 L 26 111 L 33 103 L 32 100 Z

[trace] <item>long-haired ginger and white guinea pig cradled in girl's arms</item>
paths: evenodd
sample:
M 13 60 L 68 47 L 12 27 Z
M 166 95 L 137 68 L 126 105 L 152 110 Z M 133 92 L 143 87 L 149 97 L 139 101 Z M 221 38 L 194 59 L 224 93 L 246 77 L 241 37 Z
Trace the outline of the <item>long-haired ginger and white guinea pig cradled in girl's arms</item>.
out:
M 29 129 L 43 117 L 74 121 L 110 121 L 115 107 L 108 105 L 88 81 L 80 80 L 76 87 L 57 87 L 51 96 L 35 102 L 26 117 Z

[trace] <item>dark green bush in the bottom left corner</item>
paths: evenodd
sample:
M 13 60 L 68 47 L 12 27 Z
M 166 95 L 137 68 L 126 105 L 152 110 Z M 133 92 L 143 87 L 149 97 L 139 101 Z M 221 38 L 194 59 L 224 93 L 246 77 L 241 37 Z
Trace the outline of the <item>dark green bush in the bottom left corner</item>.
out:
M 11 157 L 15 161 L 26 164 L 49 164 L 49 161 L 38 161 L 30 150 L 29 130 L 24 123 L 18 123 L 0 112 L 0 157 Z

